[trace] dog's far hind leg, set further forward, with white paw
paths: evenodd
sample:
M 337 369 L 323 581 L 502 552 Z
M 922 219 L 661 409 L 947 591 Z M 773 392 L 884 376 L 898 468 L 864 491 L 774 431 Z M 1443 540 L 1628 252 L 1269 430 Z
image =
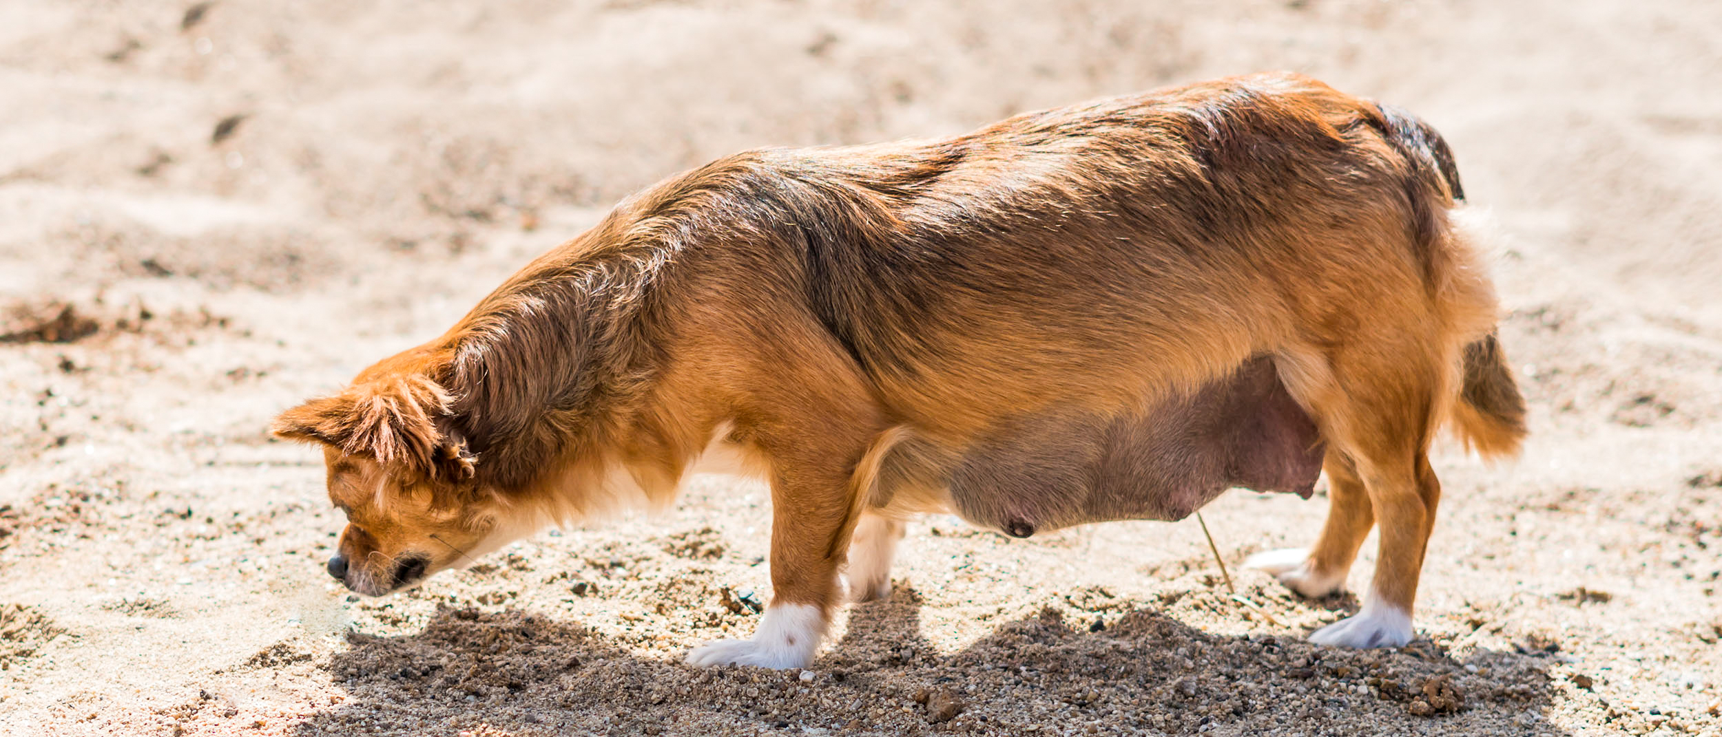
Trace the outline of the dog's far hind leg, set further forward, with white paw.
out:
M 1304 596 L 1328 596 L 1345 587 L 1357 549 L 1376 523 L 1374 506 L 1357 468 L 1338 449 L 1328 449 L 1328 522 L 1314 549 L 1292 548 L 1252 554 L 1247 568 L 1264 570 Z

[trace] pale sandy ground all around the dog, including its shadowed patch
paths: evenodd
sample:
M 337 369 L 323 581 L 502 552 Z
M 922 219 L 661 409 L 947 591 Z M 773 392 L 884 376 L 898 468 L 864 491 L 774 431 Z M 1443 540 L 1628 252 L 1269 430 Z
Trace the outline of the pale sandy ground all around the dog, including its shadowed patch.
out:
M 1719 40 L 1713 0 L 0 3 L 0 730 L 1722 734 Z M 1436 460 L 1410 647 L 1309 646 L 1355 599 L 1230 594 L 1193 520 L 928 518 L 811 670 L 694 670 L 768 596 L 725 477 L 391 599 L 322 573 L 269 418 L 618 196 L 1259 69 L 1433 121 L 1502 234 L 1534 434 Z M 1324 506 L 1205 517 L 1236 563 Z

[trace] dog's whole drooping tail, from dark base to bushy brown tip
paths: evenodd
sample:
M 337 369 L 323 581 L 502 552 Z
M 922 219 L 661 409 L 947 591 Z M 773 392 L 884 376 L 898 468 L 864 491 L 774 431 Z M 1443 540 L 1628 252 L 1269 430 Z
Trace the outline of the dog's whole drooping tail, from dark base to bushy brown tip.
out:
M 1415 115 L 1390 105 L 1376 108 L 1381 115 L 1376 126 L 1412 169 L 1405 196 L 1433 296 L 1457 334 L 1486 332 L 1464 344 L 1459 401 L 1446 418 L 1465 448 L 1488 458 L 1515 455 L 1526 436 L 1524 396 L 1493 329 L 1493 291 L 1469 263 L 1476 257 L 1465 234 L 1448 219 L 1453 205 L 1465 200 L 1453 150 Z

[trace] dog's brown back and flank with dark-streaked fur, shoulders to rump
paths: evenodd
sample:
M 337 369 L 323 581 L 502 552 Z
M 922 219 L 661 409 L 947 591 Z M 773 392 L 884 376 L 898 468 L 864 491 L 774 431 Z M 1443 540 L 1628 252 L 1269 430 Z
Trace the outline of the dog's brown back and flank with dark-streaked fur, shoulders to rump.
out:
M 735 308 L 802 310 L 892 415 L 959 439 L 1297 362 L 1378 313 L 1428 322 L 1448 363 L 1493 294 L 1446 227 L 1445 152 L 1403 114 L 1261 76 L 944 141 L 751 152 L 632 217 L 701 232 L 675 257 L 699 270 L 782 284 Z

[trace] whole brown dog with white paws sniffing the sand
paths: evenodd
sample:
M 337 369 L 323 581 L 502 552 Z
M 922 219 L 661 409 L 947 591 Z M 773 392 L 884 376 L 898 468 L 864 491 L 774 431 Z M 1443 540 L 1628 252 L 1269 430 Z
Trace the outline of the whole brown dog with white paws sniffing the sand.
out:
M 904 520 L 999 532 L 1309 496 L 1314 548 L 1252 560 L 1402 646 L 1450 427 L 1519 449 L 1498 305 L 1422 121 L 1304 76 L 1228 77 L 928 141 L 765 148 L 623 200 L 443 336 L 284 412 L 381 596 L 546 525 L 666 506 L 713 444 L 770 480 L 773 598 L 696 665 L 806 666 L 885 596 Z

